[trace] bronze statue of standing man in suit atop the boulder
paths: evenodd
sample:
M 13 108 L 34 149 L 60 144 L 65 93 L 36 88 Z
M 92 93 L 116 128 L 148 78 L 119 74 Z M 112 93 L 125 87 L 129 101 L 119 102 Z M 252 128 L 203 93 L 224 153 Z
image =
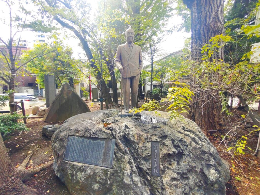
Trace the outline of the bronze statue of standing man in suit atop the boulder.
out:
M 118 46 L 115 57 L 116 67 L 122 75 L 122 94 L 125 113 L 129 112 L 130 88 L 131 109 L 136 107 L 138 100 L 138 84 L 142 69 L 142 50 L 133 43 L 134 30 L 128 28 L 125 32 L 126 43 Z

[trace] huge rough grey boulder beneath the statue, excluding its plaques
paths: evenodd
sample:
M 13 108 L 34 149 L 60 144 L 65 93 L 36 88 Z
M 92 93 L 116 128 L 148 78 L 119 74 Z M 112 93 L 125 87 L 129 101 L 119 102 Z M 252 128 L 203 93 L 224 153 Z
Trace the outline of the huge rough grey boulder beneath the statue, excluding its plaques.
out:
M 73 116 L 52 136 L 53 167 L 71 194 L 226 194 L 228 164 L 194 122 L 169 121 L 165 112 L 143 111 L 140 120 L 118 113 Z M 115 139 L 113 168 L 63 160 L 68 135 Z M 161 177 L 151 176 L 150 141 L 160 141 Z

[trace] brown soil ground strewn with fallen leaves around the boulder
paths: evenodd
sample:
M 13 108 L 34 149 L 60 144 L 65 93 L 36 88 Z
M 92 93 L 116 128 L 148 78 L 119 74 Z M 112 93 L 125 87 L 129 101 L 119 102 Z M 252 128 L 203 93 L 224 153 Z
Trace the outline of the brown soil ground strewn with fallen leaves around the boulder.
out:
M 140 102 L 140 105 L 142 102 Z M 91 111 L 100 110 L 99 102 L 87 102 Z M 104 109 L 106 108 L 104 104 Z M 108 106 L 109 109 L 115 108 L 120 110 L 120 104 L 112 104 Z M 31 109 L 26 110 L 26 114 L 30 114 Z M 31 161 L 28 163 L 27 168 L 40 166 L 48 161 L 53 160 L 53 151 L 51 148 L 51 141 L 45 136 L 42 136 L 42 127 L 50 123 L 42 121 L 42 118 L 27 119 L 27 127 L 30 128 L 28 132 L 15 133 L 10 136 L 10 139 L 5 140 L 5 146 L 9 150 L 9 157 L 12 164 L 19 166 L 29 152 L 39 145 L 37 151 L 32 155 Z M 241 134 L 246 135 L 248 132 L 246 129 L 241 131 Z M 248 136 L 248 146 L 252 148 L 252 151 L 256 149 L 257 136 Z M 210 135 L 210 141 L 216 147 L 220 142 L 220 135 Z M 222 148 L 224 147 L 221 145 Z M 229 162 L 231 170 L 231 179 L 226 184 L 228 195 L 260 195 L 260 159 L 251 155 L 252 151 L 246 150 L 245 155 L 237 157 L 238 164 L 235 164 L 235 168 L 232 167 L 232 157 L 229 153 L 223 151 L 221 147 L 218 147 L 220 156 Z M 29 181 L 25 182 L 25 185 L 37 190 L 40 195 L 69 195 L 66 186 L 55 175 L 52 166 L 45 170 L 35 174 Z

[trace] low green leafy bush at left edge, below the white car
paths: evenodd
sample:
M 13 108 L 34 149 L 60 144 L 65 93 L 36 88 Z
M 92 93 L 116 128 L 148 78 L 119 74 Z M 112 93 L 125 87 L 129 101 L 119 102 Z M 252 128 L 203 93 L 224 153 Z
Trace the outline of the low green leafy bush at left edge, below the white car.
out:
M 26 116 L 25 116 L 26 117 Z M 29 131 L 26 125 L 22 122 L 15 122 L 19 119 L 23 119 L 23 116 L 17 114 L 2 114 L 0 115 L 0 133 L 3 136 L 9 135 L 14 131 Z

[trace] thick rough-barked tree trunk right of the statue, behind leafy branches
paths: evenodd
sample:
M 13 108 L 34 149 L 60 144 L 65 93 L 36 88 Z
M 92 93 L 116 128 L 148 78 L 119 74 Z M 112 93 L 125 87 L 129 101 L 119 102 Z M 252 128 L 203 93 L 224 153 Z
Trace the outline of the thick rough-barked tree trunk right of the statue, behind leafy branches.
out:
M 183 0 L 191 10 L 191 57 L 201 60 L 201 47 L 211 37 L 224 33 L 223 0 Z M 211 59 L 223 60 L 223 48 Z M 224 119 L 218 96 L 202 92 L 196 94 L 190 105 L 190 119 L 196 122 L 204 133 L 223 130 Z

